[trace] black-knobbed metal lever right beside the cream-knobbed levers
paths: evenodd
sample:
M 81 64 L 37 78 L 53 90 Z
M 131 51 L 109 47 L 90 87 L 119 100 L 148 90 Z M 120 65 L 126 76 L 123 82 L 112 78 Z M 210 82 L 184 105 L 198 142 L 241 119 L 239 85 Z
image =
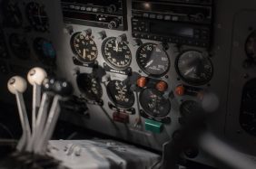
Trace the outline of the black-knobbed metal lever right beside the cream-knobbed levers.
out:
M 44 129 L 45 121 L 47 118 L 47 110 L 50 105 L 50 101 L 54 93 L 52 92 L 54 86 L 54 78 L 51 79 L 44 79 L 42 87 L 44 90 L 44 94 L 41 100 L 40 108 L 38 110 L 38 115 L 35 122 L 35 129 L 32 135 L 32 138 L 27 146 L 27 151 L 31 152 L 34 150 L 34 146 L 39 142 L 41 139 L 41 134 Z

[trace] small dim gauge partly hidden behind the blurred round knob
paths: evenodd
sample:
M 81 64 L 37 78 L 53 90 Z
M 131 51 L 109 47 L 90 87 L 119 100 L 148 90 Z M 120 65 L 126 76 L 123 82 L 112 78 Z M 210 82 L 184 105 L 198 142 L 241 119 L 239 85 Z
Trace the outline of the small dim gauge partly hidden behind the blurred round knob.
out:
M 192 115 L 193 112 L 197 112 L 201 109 L 201 105 L 192 100 L 187 100 L 182 102 L 182 105 L 180 107 L 180 112 L 182 117 L 189 117 Z

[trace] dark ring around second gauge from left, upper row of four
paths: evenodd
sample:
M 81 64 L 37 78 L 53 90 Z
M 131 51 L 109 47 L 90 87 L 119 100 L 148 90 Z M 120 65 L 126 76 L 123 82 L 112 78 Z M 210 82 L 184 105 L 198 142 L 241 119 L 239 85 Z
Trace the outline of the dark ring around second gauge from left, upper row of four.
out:
M 127 42 L 124 42 L 124 43 L 127 45 L 129 51 L 131 52 L 131 59 L 130 59 L 129 63 L 128 63 L 126 66 L 124 66 L 124 67 L 119 67 L 119 66 L 114 65 L 111 61 L 109 61 L 109 60 L 106 58 L 106 55 L 105 55 L 105 52 L 104 52 L 104 48 L 105 48 L 106 42 L 109 42 L 111 39 L 116 39 L 116 37 L 109 37 L 109 38 L 106 38 L 106 39 L 103 41 L 103 44 L 102 44 L 103 59 L 104 59 L 104 61 L 106 61 L 106 62 L 108 63 L 108 65 L 110 65 L 111 67 L 113 67 L 113 69 L 116 69 L 116 70 L 126 70 L 126 69 L 129 68 L 129 67 L 131 66 L 131 64 L 132 64 L 132 61 L 133 61 L 133 53 L 132 53 L 132 51 L 131 51 L 131 49 L 130 49 L 128 43 L 127 43 Z

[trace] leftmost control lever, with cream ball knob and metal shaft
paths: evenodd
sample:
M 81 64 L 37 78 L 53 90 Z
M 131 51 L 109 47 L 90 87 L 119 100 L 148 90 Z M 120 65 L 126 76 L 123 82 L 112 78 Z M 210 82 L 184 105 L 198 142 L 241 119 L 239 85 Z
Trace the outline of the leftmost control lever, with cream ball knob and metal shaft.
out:
M 20 117 L 22 129 L 23 129 L 23 135 L 19 140 L 19 143 L 16 146 L 16 149 L 19 151 L 23 151 L 25 149 L 26 142 L 31 137 L 31 129 L 29 126 L 29 121 L 28 121 L 28 117 L 25 109 L 25 102 L 23 98 L 23 93 L 27 88 L 27 83 L 25 79 L 23 79 L 22 77 L 15 76 L 10 80 L 8 80 L 7 87 L 12 94 L 15 94 L 15 97 L 16 97 L 19 117 Z

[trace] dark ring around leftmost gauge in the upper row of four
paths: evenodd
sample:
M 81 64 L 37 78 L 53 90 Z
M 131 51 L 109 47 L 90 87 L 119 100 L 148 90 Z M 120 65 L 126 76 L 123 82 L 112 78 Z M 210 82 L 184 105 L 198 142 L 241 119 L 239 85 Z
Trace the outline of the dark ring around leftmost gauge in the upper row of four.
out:
M 79 34 L 82 34 L 84 36 L 84 38 L 86 38 L 86 36 L 88 36 L 93 42 L 94 42 L 94 45 L 96 47 L 96 50 L 97 50 L 97 53 L 96 53 L 96 57 L 94 58 L 93 61 L 87 61 L 87 60 L 84 60 L 84 58 L 82 58 L 81 56 L 79 56 L 79 54 L 77 54 L 77 52 L 75 51 L 74 49 L 74 39 L 77 35 Z M 76 33 L 73 33 L 72 36 L 71 36 L 71 39 L 70 39 L 70 47 L 71 47 L 71 50 L 72 52 L 74 53 L 74 56 L 75 58 L 78 60 L 78 61 L 81 61 L 81 62 L 84 62 L 84 63 L 94 63 L 94 61 L 97 60 L 98 56 L 99 56 L 99 51 L 98 51 L 98 47 L 97 47 L 97 44 L 96 42 L 94 41 L 94 39 L 92 38 L 92 36 L 89 36 L 89 35 L 84 35 L 82 32 L 76 32 Z

